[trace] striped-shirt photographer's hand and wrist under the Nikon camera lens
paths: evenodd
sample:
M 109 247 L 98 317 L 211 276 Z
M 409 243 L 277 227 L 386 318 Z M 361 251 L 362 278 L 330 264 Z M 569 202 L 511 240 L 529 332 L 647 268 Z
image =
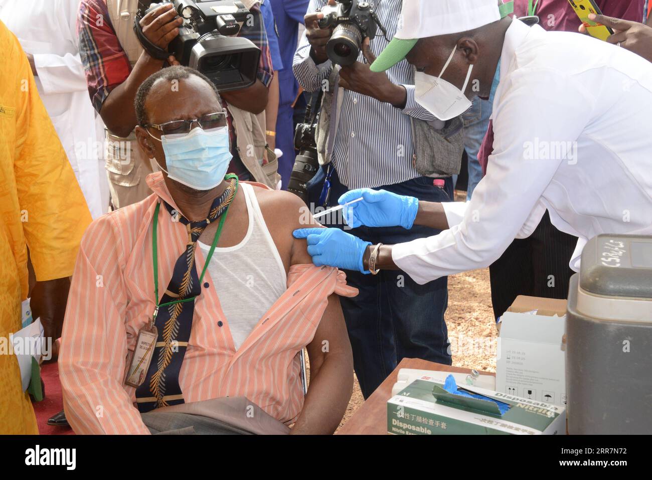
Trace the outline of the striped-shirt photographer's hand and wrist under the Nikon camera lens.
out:
M 340 70 L 340 87 L 374 97 L 381 102 L 387 102 L 402 108 L 407 101 L 408 93 L 400 85 L 394 85 L 385 72 L 372 72 L 369 68 L 376 60 L 371 52 L 369 38 L 363 42 L 363 55 L 367 63 L 355 62 Z

